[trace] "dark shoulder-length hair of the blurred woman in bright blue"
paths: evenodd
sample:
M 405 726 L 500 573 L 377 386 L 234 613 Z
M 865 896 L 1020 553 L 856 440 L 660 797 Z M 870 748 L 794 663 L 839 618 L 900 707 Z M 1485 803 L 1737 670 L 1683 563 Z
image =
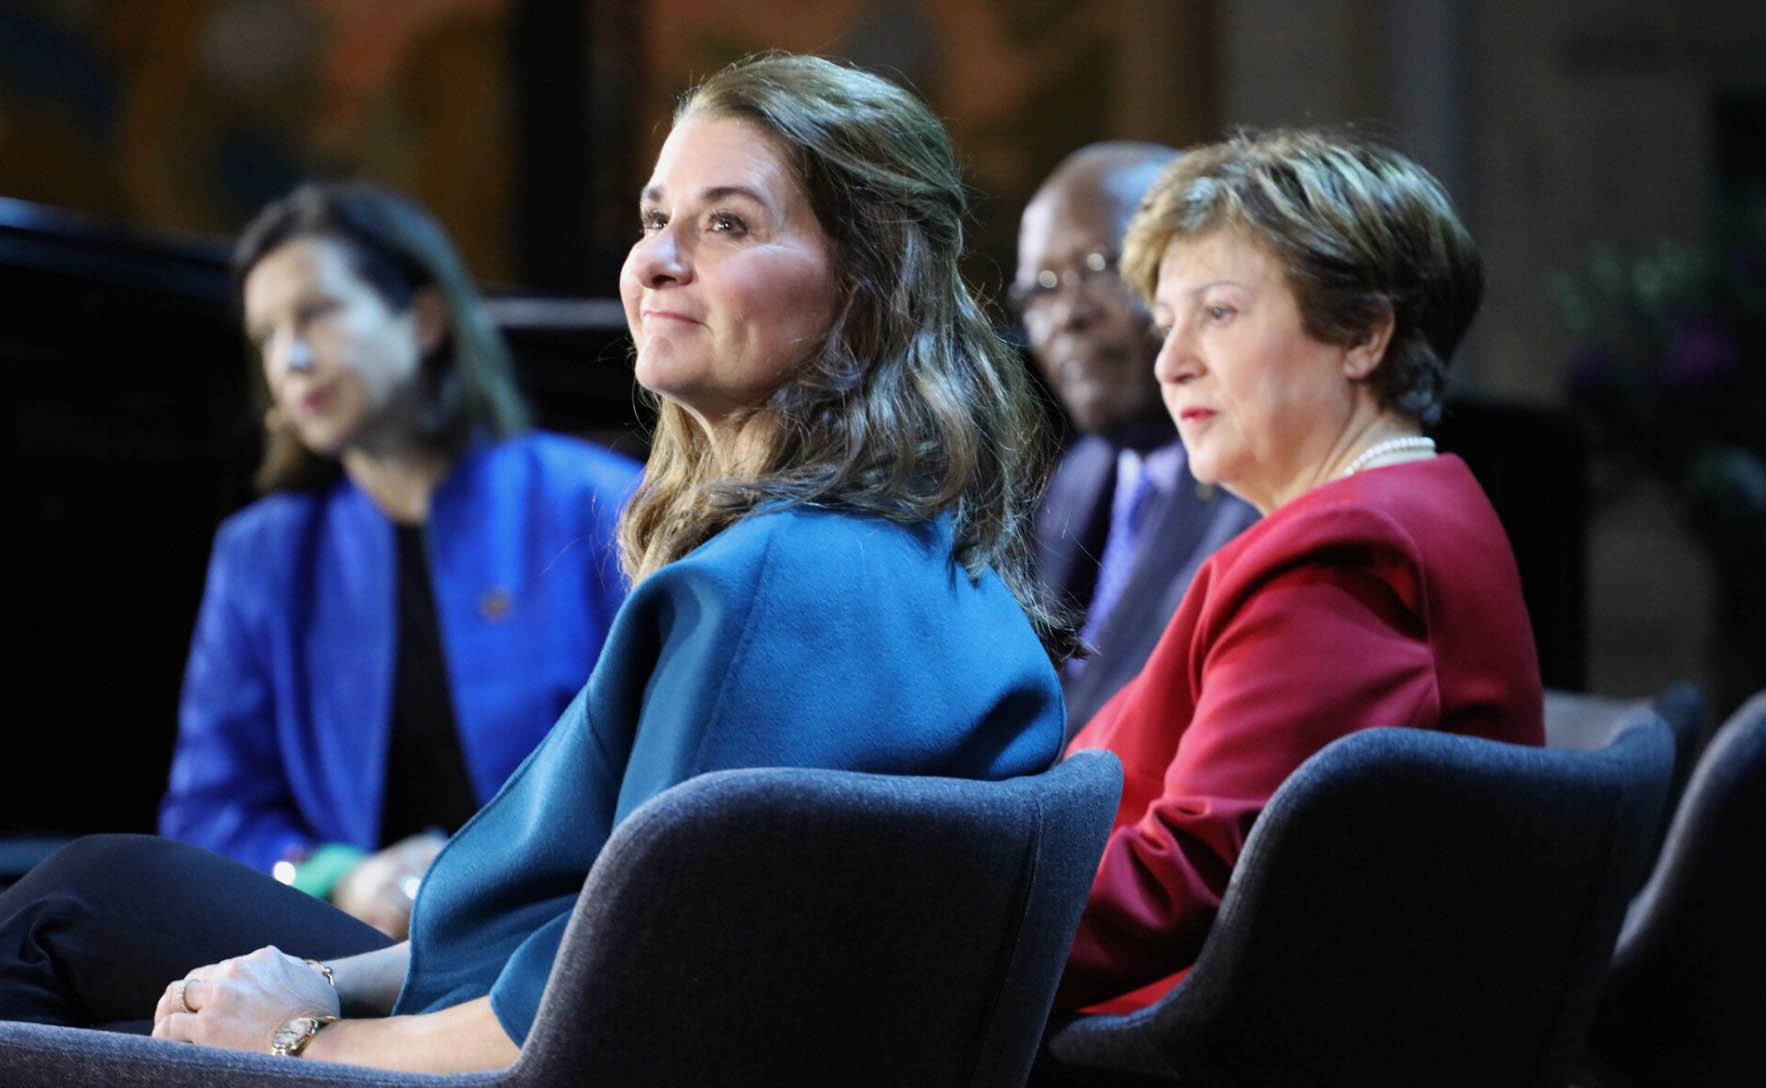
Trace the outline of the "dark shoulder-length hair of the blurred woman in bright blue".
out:
M 466 265 L 447 233 L 417 203 L 367 182 L 311 182 L 267 205 L 233 247 L 233 293 L 244 300 L 245 277 L 274 249 L 295 238 L 343 246 L 350 267 L 394 311 L 433 288 L 447 314 L 447 334 L 419 369 L 417 433 L 434 450 L 454 456 L 487 433 L 503 438 L 526 427 L 503 337 L 479 298 Z M 258 389 L 263 371 L 254 367 Z M 318 487 L 337 479 L 336 459 L 307 449 L 295 429 L 270 413 L 265 422 L 260 491 Z

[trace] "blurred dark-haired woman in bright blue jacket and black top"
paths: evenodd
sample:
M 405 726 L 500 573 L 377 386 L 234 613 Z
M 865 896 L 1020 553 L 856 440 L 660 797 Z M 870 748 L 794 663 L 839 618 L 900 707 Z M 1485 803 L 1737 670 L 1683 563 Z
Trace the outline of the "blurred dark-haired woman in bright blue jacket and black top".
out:
M 215 535 L 161 832 L 404 936 L 595 664 L 638 466 L 526 431 L 464 267 L 392 193 L 302 187 L 233 272 L 268 495 Z

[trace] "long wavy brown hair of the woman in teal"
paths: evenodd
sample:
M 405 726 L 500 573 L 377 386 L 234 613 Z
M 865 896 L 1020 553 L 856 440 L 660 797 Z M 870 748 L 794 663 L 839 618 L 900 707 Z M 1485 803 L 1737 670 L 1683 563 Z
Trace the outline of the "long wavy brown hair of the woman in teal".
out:
M 643 484 L 620 526 L 641 581 L 772 503 L 917 523 L 952 514 L 954 560 L 992 567 L 1051 657 L 1072 623 L 1030 576 L 1030 518 L 1049 456 L 1017 353 L 959 274 L 968 194 L 943 125 L 915 95 L 818 57 L 736 62 L 675 111 L 774 140 L 828 238 L 834 323 L 759 404 L 705 426 L 659 397 Z

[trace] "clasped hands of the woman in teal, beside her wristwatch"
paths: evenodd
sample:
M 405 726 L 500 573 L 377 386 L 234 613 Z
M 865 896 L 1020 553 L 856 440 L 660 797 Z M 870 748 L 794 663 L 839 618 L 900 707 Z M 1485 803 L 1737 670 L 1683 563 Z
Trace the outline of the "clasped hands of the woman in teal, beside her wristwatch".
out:
M 258 948 L 168 986 L 154 1009 L 154 1037 L 265 1053 L 293 1017 L 337 1014 L 337 993 L 318 968 Z

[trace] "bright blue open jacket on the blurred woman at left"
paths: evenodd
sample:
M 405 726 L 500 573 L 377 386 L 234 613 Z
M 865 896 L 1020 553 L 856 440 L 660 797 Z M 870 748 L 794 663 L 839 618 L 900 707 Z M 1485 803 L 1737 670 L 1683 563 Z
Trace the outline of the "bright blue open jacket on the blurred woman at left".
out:
M 468 449 L 431 498 L 429 585 L 479 798 L 540 742 L 625 595 L 638 465 L 528 433 Z M 215 533 L 178 706 L 164 835 L 256 869 L 380 846 L 397 661 L 394 526 L 348 479 L 277 493 Z

